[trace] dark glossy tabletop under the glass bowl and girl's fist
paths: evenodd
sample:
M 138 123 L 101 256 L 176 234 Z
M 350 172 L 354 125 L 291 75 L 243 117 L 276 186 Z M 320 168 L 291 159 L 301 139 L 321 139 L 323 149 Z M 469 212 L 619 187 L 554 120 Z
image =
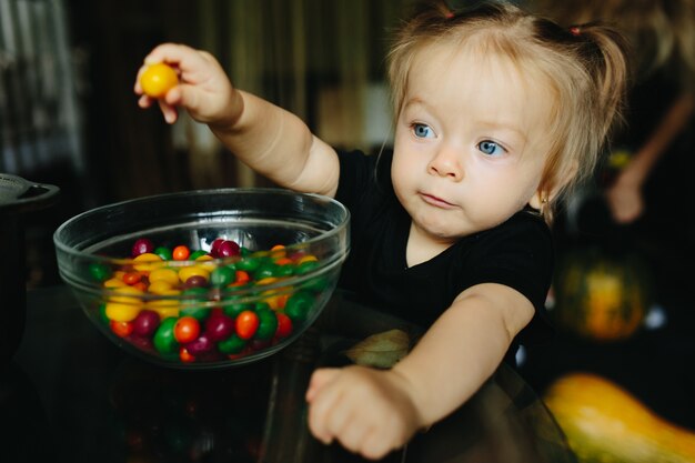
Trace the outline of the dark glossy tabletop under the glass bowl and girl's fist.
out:
M 311 436 L 311 372 L 350 363 L 351 346 L 374 333 L 419 333 L 338 291 L 318 323 L 278 354 L 179 371 L 120 351 L 63 286 L 30 292 L 27 312 L 20 349 L 2 365 L 3 461 L 360 462 Z M 575 460 L 536 394 L 501 366 L 471 401 L 383 461 Z

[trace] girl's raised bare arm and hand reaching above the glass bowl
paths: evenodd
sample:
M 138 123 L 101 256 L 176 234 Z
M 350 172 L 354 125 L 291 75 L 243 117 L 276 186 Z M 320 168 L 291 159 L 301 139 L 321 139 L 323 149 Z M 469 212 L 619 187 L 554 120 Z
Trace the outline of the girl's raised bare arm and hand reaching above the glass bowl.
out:
M 179 72 L 179 84 L 154 100 L 134 91 L 141 108 L 158 103 L 164 119 L 174 123 L 178 109 L 205 123 L 222 143 L 251 169 L 276 184 L 302 192 L 333 197 L 338 189 L 335 151 L 311 133 L 296 115 L 261 98 L 235 89 L 220 63 L 208 52 L 164 43 L 144 60 L 144 69 L 164 62 Z

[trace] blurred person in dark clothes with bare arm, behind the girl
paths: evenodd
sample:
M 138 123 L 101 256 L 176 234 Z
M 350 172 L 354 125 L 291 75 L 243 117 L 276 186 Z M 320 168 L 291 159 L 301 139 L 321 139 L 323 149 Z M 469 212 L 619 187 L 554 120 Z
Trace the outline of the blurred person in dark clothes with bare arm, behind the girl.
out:
M 642 253 L 656 279 L 657 301 L 665 304 L 689 285 L 692 271 L 685 270 L 695 254 L 695 1 L 527 3 L 528 9 L 567 27 L 605 21 L 631 41 L 635 69 L 625 123 L 613 137 L 595 184 L 603 213 L 594 213 L 590 219 L 594 223 L 585 225 L 591 240 L 604 238 L 605 230 L 597 232 L 595 222 L 607 223 L 611 246 Z

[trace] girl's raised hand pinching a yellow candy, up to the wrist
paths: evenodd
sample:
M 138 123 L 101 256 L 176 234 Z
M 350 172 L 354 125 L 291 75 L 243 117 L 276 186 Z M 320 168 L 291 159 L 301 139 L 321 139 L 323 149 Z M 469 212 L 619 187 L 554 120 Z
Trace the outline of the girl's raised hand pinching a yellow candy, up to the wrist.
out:
M 148 66 L 159 62 L 177 70 L 179 84 L 154 100 L 143 93 L 140 76 Z M 154 48 L 138 71 L 134 91 L 140 95 L 141 108 L 149 108 L 157 101 L 169 123 L 177 121 L 177 107 L 181 107 L 199 122 L 231 128 L 243 110 L 239 92 L 212 54 L 182 44 L 164 43 Z

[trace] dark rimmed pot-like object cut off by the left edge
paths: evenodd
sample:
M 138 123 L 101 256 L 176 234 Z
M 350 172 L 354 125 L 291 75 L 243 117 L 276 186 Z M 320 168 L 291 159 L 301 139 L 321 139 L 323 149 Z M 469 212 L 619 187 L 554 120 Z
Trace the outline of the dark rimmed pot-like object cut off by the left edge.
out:
M 14 355 L 24 331 L 24 224 L 27 213 L 52 205 L 60 189 L 0 173 L 0 365 Z

